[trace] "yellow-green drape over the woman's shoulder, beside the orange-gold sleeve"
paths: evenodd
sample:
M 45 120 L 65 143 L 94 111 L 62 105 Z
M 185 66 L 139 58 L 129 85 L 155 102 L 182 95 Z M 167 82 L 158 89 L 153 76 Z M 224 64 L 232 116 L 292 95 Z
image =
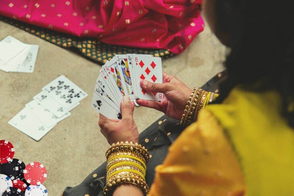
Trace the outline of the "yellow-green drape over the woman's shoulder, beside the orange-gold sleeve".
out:
M 223 104 L 206 108 L 228 132 L 247 195 L 294 195 L 294 130 L 283 118 L 281 104 L 275 91 L 253 93 L 239 87 Z

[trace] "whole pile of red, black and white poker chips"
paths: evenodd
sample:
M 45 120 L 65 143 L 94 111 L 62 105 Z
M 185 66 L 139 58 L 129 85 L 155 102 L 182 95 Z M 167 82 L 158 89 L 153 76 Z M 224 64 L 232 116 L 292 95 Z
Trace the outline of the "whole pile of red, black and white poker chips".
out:
M 7 140 L 0 140 L 0 194 L 1 196 L 47 196 L 42 185 L 47 171 L 39 162 L 25 165 L 15 159 L 14 147 Z

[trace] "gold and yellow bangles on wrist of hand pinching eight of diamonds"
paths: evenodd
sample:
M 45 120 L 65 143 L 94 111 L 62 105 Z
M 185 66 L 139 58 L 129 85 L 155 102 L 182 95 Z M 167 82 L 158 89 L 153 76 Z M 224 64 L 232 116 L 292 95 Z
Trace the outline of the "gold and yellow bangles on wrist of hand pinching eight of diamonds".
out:
M 186 108 L 181 118 L 181 124 L 188 126 L 192 122 L 195 122 L 198 117 L 198 113 L 202 108 L 205 108 L 208 103 L 214 101 L 218 97 L 216 93 L 210 93 L 204 91 L 201 88 L 195 87 L 189 97 Z M 192 118 L 193 117 L 193 118 Z

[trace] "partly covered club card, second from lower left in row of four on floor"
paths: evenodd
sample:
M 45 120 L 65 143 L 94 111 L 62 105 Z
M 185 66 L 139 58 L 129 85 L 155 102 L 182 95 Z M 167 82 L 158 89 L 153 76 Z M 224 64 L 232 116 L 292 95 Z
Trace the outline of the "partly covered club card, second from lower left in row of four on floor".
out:
M 60 118 L 58 118 L 56 115 L 51 113 L 48 109 L 43 107 L 36 100 L 30 101 L 25 106 L 28 107 L 31 110 L 31 112 L 36 116 L 36 118 L 41 120 L 41 122 L 44 123 L 46 127 L 51 127 L 52 125 L 59 123 L 61 120 L 71 115 L 71 113 L 68 112 L 64 114 L 63 116 L 61 116 Z

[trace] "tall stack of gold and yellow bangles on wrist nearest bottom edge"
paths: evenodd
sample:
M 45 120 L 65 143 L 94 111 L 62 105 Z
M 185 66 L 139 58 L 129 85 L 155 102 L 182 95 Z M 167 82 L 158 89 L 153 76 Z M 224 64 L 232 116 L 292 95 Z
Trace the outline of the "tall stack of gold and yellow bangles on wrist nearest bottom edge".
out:
M 115 188 L 124 183 L 136 185 L 144 195 L 148 194 L 149 187 L 145 176 L 149 153 L 144 146 L 133 142 L 113 143 L 106 152 L 106 158 L 104 195 L 112 195 Z

